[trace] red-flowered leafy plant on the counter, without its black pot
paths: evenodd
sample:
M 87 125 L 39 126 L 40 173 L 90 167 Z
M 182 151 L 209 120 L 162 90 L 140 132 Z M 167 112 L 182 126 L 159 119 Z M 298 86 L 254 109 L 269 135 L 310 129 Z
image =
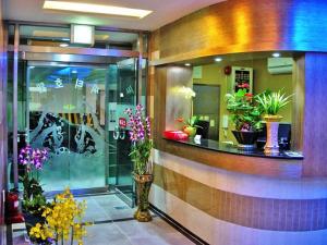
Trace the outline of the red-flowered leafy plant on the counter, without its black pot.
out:
M 226 95 L 227 110 L 237 131 L 259 131 L 262 110 L 245 88 Z

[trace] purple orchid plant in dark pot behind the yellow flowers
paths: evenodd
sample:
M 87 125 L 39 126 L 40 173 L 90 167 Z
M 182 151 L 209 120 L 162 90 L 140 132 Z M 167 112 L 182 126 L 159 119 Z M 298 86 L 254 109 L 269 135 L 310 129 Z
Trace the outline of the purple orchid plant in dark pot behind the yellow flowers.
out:
M 25 174 L 21 180 L 24 187 L 22 206 L 27 232 L 37 222 L 44 222 L 41 213 L 47 201 L 38 181 L 38 171 L 43 169 L 47 159 L 47 149 L 33 149 L 31 146 L 22 148 L 19 155 L 19 163 L 25 166 Z

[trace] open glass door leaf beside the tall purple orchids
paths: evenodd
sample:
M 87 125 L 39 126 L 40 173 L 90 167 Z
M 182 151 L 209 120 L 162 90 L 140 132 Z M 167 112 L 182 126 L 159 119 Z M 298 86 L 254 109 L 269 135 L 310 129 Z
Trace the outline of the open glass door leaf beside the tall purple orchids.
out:
M 124 110 L 134 109 L 137 98 L 137 59 L 130 58 L 109 65 L 108 76 L 108 146 L 109 184 L 120 197 L 133 206 L 133 163 Z

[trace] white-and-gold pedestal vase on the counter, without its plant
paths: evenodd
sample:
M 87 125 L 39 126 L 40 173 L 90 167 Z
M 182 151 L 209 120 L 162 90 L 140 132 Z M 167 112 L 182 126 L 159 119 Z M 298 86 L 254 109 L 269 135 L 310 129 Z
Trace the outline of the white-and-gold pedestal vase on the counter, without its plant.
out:
M 265 145 L 265 154 L 268 155 L 279 154 L 278 127 L 282 117 L 267 114 L 264 117 L 264 119 L 267 125 L 267 139 Z

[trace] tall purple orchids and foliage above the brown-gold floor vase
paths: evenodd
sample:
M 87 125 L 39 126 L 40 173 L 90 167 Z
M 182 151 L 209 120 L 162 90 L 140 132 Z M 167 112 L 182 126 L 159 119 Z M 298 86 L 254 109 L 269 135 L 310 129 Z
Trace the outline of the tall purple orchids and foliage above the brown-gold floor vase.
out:
M 131 108 L 124 111 L 129 115 L 128 125 L 131 127 L 132 151 L 130 156 L 134 162 L 134 173 L 140 175 L 152 173 L 152 163 L 148 162 L 153 148 L 150 120 L 143 112 L 144 108 L 142 105 L 136 106 L 135 113 L 133 113 Z

